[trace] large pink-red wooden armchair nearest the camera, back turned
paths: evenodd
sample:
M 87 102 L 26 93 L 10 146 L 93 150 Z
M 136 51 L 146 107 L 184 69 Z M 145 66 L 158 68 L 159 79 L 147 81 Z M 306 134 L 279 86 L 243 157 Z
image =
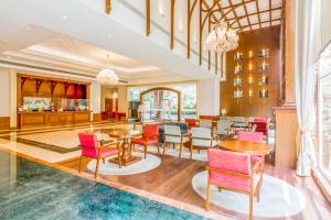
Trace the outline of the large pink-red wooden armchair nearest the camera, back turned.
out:
M 248 154 L 209 148 L 207 190 L 205 208 L 210 210 L 211 185 L 218 189 L 249 195 L 249 220 L 253 219 L 254 196 L 259 201 L 259 164 L 252 163 Z M 222 191 L 221 191 L 222 194 Z

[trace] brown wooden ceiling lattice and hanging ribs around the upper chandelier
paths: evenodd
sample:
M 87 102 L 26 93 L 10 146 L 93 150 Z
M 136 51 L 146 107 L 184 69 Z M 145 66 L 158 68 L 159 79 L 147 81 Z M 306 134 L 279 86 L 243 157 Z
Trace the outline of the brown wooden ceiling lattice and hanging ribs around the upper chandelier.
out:
M 170 7 L 170 50 L 174 47 L 174 8 L 178 1 L 163 0 Z M 183 0 L 181 0 L 183 1 Z M 284 0 L 186 0 L 188 1 L 188 51 L 191 58 L 192 16 L 199 14 L 199 64 L 203 62 L 203 38 L 214 24 L 224 20 L 229 29 L 237 32 L 254 31 L 281 24 Z M 106 12 L 110 12 L 110 0 L 106 0 Z M 151 32 L 151 1 L 146 0 L 146 35 Z M 207 31 L 205 31 L 205 29 Z M 215 74 L 217 65 L 223 62 L 224 54 L 215 53 Z M 211 69 L 211 52 L 207 54 L 207 66 Z

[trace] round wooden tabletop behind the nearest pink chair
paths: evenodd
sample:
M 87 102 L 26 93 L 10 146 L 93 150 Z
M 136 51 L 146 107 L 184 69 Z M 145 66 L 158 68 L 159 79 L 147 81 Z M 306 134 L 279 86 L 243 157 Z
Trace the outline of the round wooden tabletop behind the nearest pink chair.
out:
M 227 151 L 241 152 L 255 156 L 265 156 L 269 154 L 271 150 L 268 144 L 238 140 L 220 141 L 220 146 Z

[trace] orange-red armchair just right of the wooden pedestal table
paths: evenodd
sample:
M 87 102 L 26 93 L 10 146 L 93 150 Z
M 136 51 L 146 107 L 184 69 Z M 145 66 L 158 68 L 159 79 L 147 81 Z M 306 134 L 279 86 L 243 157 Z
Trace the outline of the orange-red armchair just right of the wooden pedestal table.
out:
M 131 144 L 139 144 L 143 146 L 145 158 L 147 155 L 148 144 L 157 144 L 158 154 L 160 154 L 159 146 L 159 125 L 158 124 L 146 124 L 143 127 L 142 136 L 139 139 L 132 139 Z M 132 147 L 131 147 L 132 148 Z

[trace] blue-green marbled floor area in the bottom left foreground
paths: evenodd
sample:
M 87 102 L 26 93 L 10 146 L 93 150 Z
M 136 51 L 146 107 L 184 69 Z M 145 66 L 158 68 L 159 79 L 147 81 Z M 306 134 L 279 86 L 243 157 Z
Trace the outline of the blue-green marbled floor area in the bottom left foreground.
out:
M 204 219 L 0 152 L 0 219 Z

